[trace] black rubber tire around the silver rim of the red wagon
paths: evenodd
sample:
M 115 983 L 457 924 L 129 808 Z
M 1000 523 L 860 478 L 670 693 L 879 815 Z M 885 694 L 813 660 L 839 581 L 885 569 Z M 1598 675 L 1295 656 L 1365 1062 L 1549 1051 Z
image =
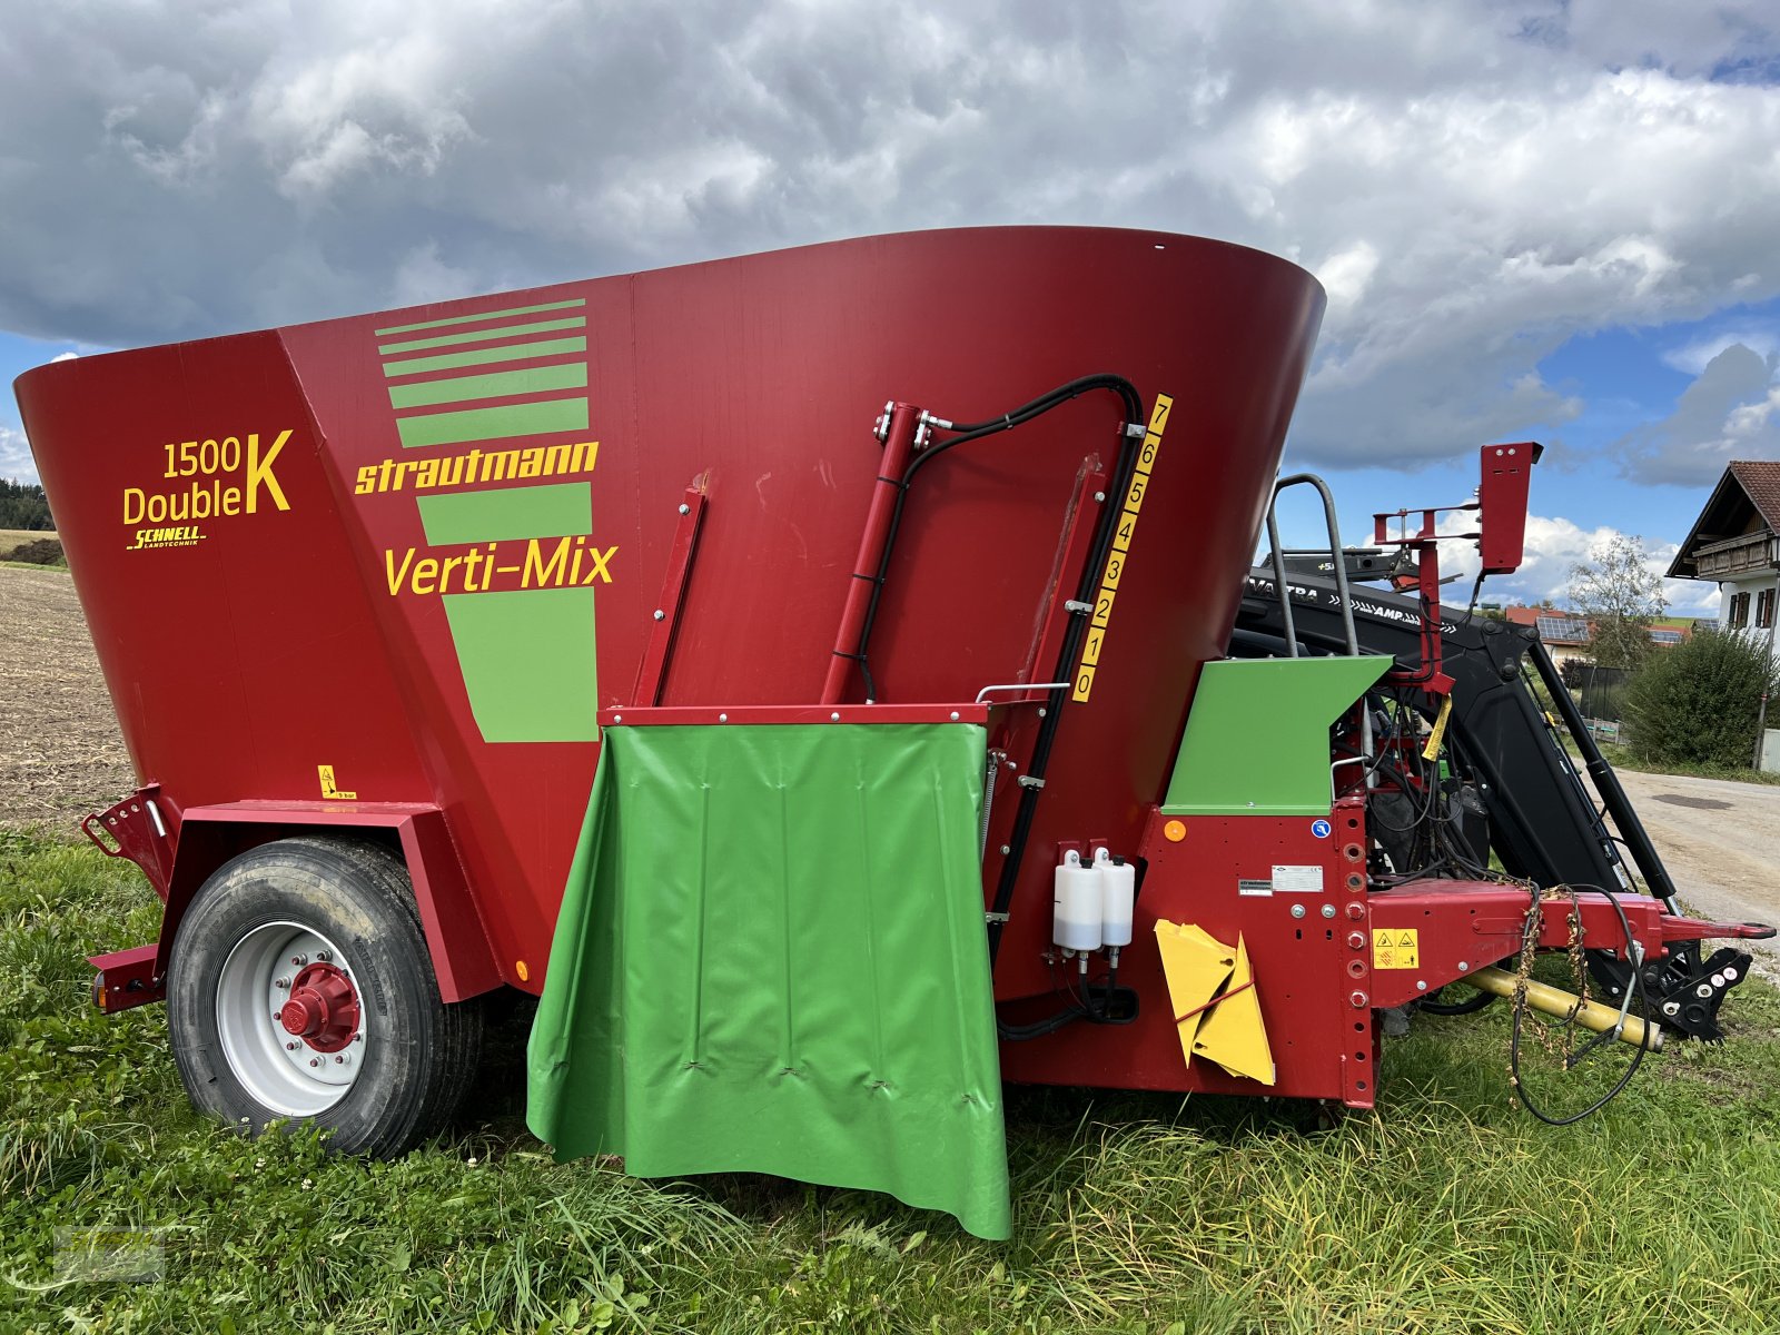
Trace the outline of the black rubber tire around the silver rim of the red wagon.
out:
M 368 1034 L 347 1095 L 308 1118 L 329 1146 L 392 1159 L 450 1121 L 482 1048 L 479 1002 L 440 1000 L 413 883 L 388 849 L 349 838 L 295 837 L 242 853 L 203 883 L 173 942 L 167 1029 L 192 1104 L 258 1134 L 283 1114 L 237 1079 L 217 1034 L 217 983 L 256 927 L 295 922 L 352 961 Z

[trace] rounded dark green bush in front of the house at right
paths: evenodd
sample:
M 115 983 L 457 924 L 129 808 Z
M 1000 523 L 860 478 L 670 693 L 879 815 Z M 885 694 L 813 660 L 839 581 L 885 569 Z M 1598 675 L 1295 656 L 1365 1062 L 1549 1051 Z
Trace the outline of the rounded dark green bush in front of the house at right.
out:
M 1780 687 L 1766 639 L 1702 632 L 1652 653 L 1625 687 L 1632 755 L 1655 764 L 1748 769 L 1762 687 Z

